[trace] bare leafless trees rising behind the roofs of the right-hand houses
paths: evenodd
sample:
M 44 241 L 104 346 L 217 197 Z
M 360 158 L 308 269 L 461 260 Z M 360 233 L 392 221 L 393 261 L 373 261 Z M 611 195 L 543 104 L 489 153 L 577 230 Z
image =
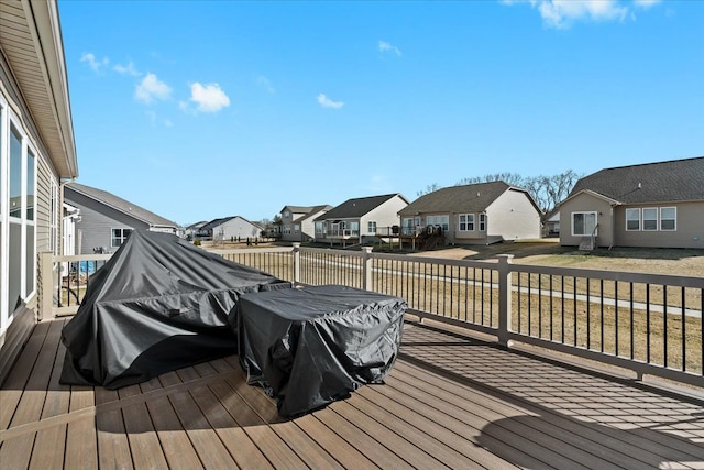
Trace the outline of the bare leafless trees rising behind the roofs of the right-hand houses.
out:
M 582 176 L 573 170 L 557 175 L 521 176 L 517 173 L 494 173 L 484 176 L 462 178 L 455 186 L 473 185 L 503 181 L 512 186 L 526 189 L 543 211 L 552 210 L 562 199 L 566 198 L 578 179 Z M 418 197 L 440 189 L 437 183 L 426 186 L 418 192 Z

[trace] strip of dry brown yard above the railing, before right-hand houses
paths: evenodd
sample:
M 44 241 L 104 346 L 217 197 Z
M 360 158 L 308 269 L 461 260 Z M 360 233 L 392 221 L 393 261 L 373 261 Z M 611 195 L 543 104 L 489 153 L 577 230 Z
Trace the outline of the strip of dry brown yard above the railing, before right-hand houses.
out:
M 498 254 L 513 254 L 513 262 L 520 264 L 704 276 L 704 250 L 697 249 L 604 248 L 586 252 L 549 240 L 452 247 L 413 254 L 450 260 L 491 260 Z

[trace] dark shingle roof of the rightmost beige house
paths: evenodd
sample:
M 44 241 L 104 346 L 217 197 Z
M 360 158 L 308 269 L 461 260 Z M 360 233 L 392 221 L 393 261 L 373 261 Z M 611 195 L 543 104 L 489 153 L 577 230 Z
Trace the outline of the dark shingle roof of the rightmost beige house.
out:
M 704 200 L 704 156 L 601 170 L 570 193 L 591 190 L 620 204 Z

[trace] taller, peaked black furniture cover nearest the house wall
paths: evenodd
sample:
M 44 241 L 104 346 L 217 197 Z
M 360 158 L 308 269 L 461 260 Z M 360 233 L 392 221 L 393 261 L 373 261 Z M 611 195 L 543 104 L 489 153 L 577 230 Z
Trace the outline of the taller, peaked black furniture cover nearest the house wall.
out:
M 240 296 L 286 287 L 174 234 L 133 231 L 62 331 L 61 382 L 118 389 L 237 353 Z

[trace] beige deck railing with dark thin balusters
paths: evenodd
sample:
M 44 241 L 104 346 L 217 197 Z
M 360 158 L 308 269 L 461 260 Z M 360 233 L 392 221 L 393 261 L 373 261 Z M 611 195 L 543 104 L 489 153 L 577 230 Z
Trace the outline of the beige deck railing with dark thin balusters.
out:
M 638 379 L 704 386 L 704 277 L 515 264 L 510 255 L 443 260 L 366 247 L 212 252 L 297 285 L 341 284 L 403 297 L 409 314 L 495 336 L 505 347 L 520 341 L 625 368 Z M 97 266 L 110 255 L 48 256 L 42 266 L 54 266 L 54 274 L 61 263 L 77 266 L 61 283 L 56 276 L 41 284 L 57 293 L 53 308 L 43 310 L 67 313 L 90 283 L 90 273 L 81 277 L 86 262 Z M 51 297 L 42 295 L 50 298 L 43 302 Z

